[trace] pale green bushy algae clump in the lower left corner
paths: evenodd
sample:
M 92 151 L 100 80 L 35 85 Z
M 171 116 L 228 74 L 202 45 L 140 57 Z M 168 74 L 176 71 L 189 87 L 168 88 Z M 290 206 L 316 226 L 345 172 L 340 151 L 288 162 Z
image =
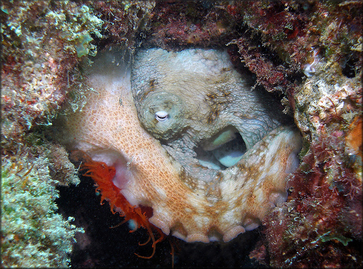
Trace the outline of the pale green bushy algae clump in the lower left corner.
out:
M 47 158 L 2 159 L 1 267 L 68 267 L 76 232 L 57 213 Z

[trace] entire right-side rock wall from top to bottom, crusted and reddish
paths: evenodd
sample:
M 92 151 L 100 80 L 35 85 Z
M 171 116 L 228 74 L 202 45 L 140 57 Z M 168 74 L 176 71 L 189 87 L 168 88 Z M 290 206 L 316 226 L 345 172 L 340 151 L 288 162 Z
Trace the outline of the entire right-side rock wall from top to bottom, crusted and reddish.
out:
M 288 69 L 279 69 L 284 78 L 278 84 L 288 86 L 282 88 L 286 104 L 304 138 L 300 168 L 288 179 L 287 203 L 264 220 L 264 249 L 254 254 L 266 262 L 262 253 L 268 253 L 272 266 L 362 264 L 357 248 L 362 236 L 361 5 L 359 1 L 258 1 L 236 14 L 289 63 Z M 278 19 L 272 16 L 276 12 Z M 306 15 L 309 19 L 303 19 Z M 258 52 L 242 40 L 234 42 L 239 52 Z M 265 79 L 269 71 L 260 71 L 261 66 L 269 69 L 273 64 L 252 55 L 242 54 L 246 66 L 261 75 L 267 90 L 281 90 Z M 288 79 L 291 70 L 299 69 L 307 76 L 301 83 Z

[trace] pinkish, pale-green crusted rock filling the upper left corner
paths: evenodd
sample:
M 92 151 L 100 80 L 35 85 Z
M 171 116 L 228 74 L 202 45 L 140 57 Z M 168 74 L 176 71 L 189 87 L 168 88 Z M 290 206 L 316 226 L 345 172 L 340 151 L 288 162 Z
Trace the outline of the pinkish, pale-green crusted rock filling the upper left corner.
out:
M 17 141 L 34 124 L 50 125 L 72 87 L 79 89 L 77 64 L 96 54 L 90 35 L 100 37 L 103 22 L 71 1 L 1 5 L 1 134 Z

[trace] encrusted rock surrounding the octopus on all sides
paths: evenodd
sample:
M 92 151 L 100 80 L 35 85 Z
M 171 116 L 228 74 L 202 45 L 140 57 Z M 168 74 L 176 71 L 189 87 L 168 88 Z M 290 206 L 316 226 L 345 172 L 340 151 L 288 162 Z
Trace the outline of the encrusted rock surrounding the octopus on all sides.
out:
M 130 235 L 127 239 L 121 236 L 125 239 L 122 244 L 122 239 L 113 233 L 115 229 L 106 229 L 122 221 L 113 219 L 117 214 L 109 213 L 115 222 L 105 218 L 109 224 L 105 229 L 92 226 L 94 213 L 81 213 L 89 206 L 81 203 L 85 189 L 66 187 L 77 183 L 78 165 L 69 162 L 68 153 L 54 141 L 57 134 L 50 129 L 57 114 L 68 114 L 85 104 L 84 93 L 91 89 L 84 85 L 83 79 L 88 75 L 84 71 L 96 52 L 118 46 L 131 52 L 123 55 L 127 58 L 140 45 L 169 51 L 190 46 L 227 48 L 237 69 L 248 68 L 253 74 L 256 89 L 272 92 L 275 100 L 281 100 L 282 105 L 276 108 L 294 117 L 303 137 L 300 167 L 287 181 L 287 202 L 273 209 L 257 230 L 226 245 L 181 243 L 174 260 L 176 267 L 362 266 L 361 1 L 2 1 L 0 13 L 1 169 L 3 177 L 11 182 L 21 181 L 16 188 L 7 184 L 2 190 L 9 187 L 16 192 L 12 194 L 20 192 L 31 198 L 31 188 L 27 186 L 45 182 L 43 189 L 55 197 L 54 189 L 48 186 L 53 182 L 50 179 L 60 182 L 53 182 L 57 186 L 65 185 L 56 200 L 58 205 L 64 205 L 62 202 L 68 199 L 66 206 L 59 209 L 63 220 L 54 214 L 57 209 L 53 199 L 35 202 L 40 208 L 29 203 L 33 198 L 26 199 L 24 206 L 30 209 L 27 212 L 48 212 L 48 216 L 53 216 L 54 221 L 50 222 L 40 218 L 44 227 L 58 227 L 53 231 L 63 229 L 68 216 L 75 216 L 75 223 L 85 227 L 86 234 L 77 233 L 72 266 L 170 265 L 170 261 L 160 262 L 169 257 L 166 240 L 158 244 L 157 260 L 134 256 L 139 248 L 137 241 L 146 241 L 147 234 L 139 229 L 135 236 L 138 239 L 131 242 L 135 233 L 128 234 L 128 228 L 121 225 L 115 229 L 125 227 L 120 234 Z M 120 59 L 115 59 L 117 62 Z M 49 173 L 38 177 L 35 167 L 41 171 L 49 168 Z M 91 182 L 87 188 L 94 192 Z M 66 195 L 74 191 L 81 195 Z M 9 205 L 8 196 L 1 194 L 1 198 L 2 206 Z M 41 208 L 45 210 L 38 210 Z M 31 216 L 34 214 L 22 215 L 22 223 L 33 224 Z M 2 214 L 2 221 L 3 217 Z M 9 220 L 16 224 L 14 219 Z M 59 246 L 59 240 L 42 238 L 42 229 L 37 226 L 31 231 L 40 236 L 32 237 L 32 242 L 45 252 L 31 252 L 33 248 L 24 252 L 21 246 L 29 242 L 26 230 L 18 230 L 13 238 L 12 232 L 3 227 L 4 267 L 19 265 L 18 258 L 13 257 L 23 253 L 35 254 L 27 254 L 30 260 L 23 259 L 25 267 L 43 259 L 45 252 L 49 257 L 65 257 L 70 250 L 67 246 L 73 241 L 69 233 L 69 237 L 63 237 L 64 248 L 54 247 Z M 109 234 L 107 242 L 117 240 L 117 246 L 124 246 L 125 256 L 120 251 L 115 255 L 109 255 L 113 250 L 103 251 L 104 238 L 97 241 L 90 231 L 105 237 Z M 257 238 L 258 242 L 248 240 L 245 244 L 242 238 Z M 9 247 L 14 245 L 17 247 Z M 57 250 L 61 253 L 54 253 Z M 206 258 L 202 260 L 201 256 Z M 58 264 L 55 266 L 69 262 L 67 258 L 52 261 Z

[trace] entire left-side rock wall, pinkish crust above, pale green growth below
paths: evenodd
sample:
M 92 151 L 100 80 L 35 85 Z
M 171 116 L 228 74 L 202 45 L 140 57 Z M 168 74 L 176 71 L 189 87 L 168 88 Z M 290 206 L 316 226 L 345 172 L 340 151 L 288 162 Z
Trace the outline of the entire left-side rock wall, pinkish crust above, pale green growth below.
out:
M 57 213 L 56 186 L 79 179 L 64 148 L 34 129 L 79 86 L 79 57 L 96 52 L 82 38 L 101 36 L 102 20 L 72 1 L 2 1 L 0 13 L 1 267 L 67 267 L 82 230 Z

